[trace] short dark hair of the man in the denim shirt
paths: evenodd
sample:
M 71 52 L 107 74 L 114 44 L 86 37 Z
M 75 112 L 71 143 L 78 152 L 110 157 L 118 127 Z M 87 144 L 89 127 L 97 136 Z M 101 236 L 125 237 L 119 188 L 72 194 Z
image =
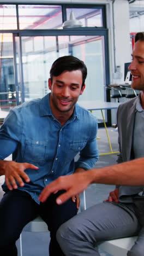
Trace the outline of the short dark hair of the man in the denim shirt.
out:
M 57 77 L 62 74 L 64 71 L 74 71 L 81 70 L 82 72 L 82 86 L 85 84 L 85 80 L 87 77 L 87 67 L 85 63 L 74 56 L 68 55 L 59 57 L 52 64 L 50 70 L 50 79 L 52 81 L 52 77 Z

